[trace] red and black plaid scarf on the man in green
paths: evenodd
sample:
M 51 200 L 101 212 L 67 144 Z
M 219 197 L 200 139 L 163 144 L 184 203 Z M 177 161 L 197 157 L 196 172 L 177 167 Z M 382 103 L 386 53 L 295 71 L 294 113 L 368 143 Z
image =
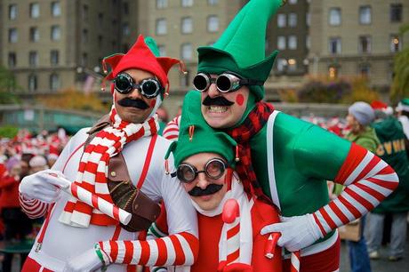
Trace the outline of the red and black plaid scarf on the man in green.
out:
M 245 191 L 268 203 L 271 203 L 271 200 L 264 195 L 253 169 L 250 140 L 253 135 L 261 131 L 261 128 L 267 123 L 273 111 L 274 107 L 272 105 L 260 101 L 256 103 L 256 106 L 245 118 L 243 124 L 228 131 L 228 134 L 237 141 L 240 160 L 236 165 L 236 172 L 240 180 L 243 181 Z

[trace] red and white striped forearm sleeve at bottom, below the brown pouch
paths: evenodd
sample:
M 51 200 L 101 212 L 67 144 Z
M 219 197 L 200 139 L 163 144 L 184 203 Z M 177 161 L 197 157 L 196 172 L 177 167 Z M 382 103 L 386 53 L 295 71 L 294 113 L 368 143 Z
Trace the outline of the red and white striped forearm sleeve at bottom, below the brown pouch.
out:
M 109 262 L 146 266 L 190 266 L 196 258 L 199 242 L 196 236 L 181 232 L 148 241 L 100 242 Z

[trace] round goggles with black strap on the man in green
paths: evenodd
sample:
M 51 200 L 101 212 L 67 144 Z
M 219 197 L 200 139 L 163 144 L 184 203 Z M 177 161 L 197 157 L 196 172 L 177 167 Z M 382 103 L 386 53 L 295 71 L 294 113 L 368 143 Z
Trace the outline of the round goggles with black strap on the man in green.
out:
M 199 92 L 205 92 L 211 84 L 216 84 L 219 92 L 235 92 L 244 85 L 263 85 L 260 80 L 241 78 L 231 72 L 223 73 L 217 77 L 211 77 L 205 73 L 198 73 L 193 79 L 193 86 Z

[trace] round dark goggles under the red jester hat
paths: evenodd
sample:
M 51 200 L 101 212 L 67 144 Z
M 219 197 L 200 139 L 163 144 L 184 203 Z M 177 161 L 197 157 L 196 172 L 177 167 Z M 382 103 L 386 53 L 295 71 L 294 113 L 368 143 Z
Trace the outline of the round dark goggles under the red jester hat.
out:
M 163 87 L 156 78 L 143 79 L 140 84 L 135 84 L 132 76 L 126 73 L 117 75 L 114 79 L 114 85 L 117 92 L 126 94 L 132 92 L 133 89 L 140 90 L 140 94 L 150 99 L 156 97 L 163 91 Z

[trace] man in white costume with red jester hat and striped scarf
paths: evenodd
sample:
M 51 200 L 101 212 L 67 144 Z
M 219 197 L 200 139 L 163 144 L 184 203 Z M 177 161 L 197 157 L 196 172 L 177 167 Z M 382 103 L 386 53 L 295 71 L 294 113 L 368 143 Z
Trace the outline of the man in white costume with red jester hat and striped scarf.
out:
M 23 271 L 129 271 L 138 264 L 191 265 L 196 259 L 196 211 L 180 182 L 165 175 L 171 142 L 156 133 L 167 73 L 180 60 L 157 55 L 155 41 L 139 36 L 126 54 L 104 59 L 111 68 L 106 78 L 113 80 L 110 113 L 77 132 L 52 170 L 22 180 L 23 210 L 33 218 L 50 211 Z M 80 194 L 60 193 L 63 180 L 73 182 L 71 190 L 92 193 L 93 207 L 80 201 Z M 100 199 L 111 213 L 101 212 Z M 161 199 L 170 236 L 138 240 L 140 230 L 156 219 Z M 118 207 L 131 212 L 129 224 L 119 223 Z

